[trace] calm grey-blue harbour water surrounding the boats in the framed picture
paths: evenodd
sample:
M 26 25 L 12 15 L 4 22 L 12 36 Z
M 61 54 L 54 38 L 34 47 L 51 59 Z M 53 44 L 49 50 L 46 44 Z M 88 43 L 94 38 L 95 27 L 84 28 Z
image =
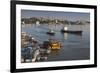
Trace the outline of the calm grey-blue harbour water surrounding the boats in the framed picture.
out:
M 22 32 L 27 32 L 35 39 L 43 43 L 49 38 L 59 40 L 63 47 L 60 50 L 51 51 L 46 60 L 43 61 L 64 61 L 64 60 L 87 60 L 90 59 L 90 24 L 66 25 L 71 29 L 82 30 L 82 35 L 61 33 L 61 25 L 23 25 Z M 46 32 L 49 29 L 55 31 L 55 36 L 49 36 Z

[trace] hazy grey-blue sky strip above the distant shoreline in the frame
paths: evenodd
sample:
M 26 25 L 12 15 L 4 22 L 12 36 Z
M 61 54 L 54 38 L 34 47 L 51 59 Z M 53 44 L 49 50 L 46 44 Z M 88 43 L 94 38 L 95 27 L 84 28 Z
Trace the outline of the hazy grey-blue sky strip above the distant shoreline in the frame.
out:
M 37 10 L 21 10 L 21 17 L 49 17 L 57 19 L 67 19 L 70 21 L 90 20 L 90 13 L 83 12 L 57 12 L 57 11 L 37 11 Z

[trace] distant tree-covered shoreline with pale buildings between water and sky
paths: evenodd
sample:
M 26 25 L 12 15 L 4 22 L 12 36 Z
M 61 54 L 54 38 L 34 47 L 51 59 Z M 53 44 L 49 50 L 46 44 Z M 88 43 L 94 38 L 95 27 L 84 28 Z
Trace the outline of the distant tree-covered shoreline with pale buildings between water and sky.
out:
M 21 23 L 23 24 L 36 24 L 36 22 L 40 24 L 85 24 L 90 23 L 89 21 L 68 21 L 67 19 L 50 19 L 45 17 L 32 17 L 32 18 L 22 18 Z

